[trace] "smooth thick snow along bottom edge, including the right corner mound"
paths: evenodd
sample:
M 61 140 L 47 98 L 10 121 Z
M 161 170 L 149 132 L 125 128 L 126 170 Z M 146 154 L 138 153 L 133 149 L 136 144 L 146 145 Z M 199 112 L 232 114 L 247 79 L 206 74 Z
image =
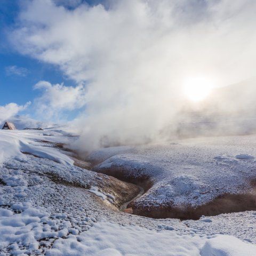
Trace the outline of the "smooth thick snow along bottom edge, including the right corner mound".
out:
M 98 222 L 79 237 L 58 239 L 47 256 L 141 255 L 141 256 L 248 256 L 256 246 L 236 237 L 218 235 L 211 239 L 198 235 L 177 235 L 170 230 L 148 230 L 134 226 Z

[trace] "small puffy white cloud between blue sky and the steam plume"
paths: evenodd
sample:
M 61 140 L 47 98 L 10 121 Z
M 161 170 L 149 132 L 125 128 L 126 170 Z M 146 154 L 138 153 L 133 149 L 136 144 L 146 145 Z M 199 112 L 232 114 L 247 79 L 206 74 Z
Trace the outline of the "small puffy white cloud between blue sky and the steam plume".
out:
M 43 119 L 56 118 L 61 111 L 82 108 L 86 103 L 82 84 L 72 87 L 40 81 L 34 86 L 34 89 L 42 91 L 42 95 L 35 99 L 35 107 Z M 44 113 L 47 115 L 44 116 Z

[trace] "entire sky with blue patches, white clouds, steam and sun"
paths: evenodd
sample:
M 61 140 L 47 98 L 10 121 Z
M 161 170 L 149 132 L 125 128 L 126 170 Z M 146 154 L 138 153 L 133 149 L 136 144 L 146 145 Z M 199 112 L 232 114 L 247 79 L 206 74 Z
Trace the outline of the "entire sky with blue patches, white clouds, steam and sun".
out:
M 1 122 L 73 121 L 90 148 L 143 143 L 255 77 L 254 0 L 0 2 Z

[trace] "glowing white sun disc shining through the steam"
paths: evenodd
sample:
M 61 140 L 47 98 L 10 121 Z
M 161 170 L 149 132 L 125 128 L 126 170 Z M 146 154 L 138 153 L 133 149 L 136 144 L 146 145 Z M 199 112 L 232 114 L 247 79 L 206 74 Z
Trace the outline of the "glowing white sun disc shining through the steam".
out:
M 187 78 L 183 85 L 183 92 L 191 101 L 204 100 L 212 90 L 212 81 L 205 77 L 190 77 Z

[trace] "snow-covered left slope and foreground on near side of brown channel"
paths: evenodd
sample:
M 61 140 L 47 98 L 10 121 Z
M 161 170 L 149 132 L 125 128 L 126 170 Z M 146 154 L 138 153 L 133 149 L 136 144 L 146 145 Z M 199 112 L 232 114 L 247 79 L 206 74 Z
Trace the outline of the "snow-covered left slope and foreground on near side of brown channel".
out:
M 256 255 L 255 211 L 198 221 L 156 220 L 117 211 L 112 207 L 115 197 L 105 191 L 109 178 L 74 166 L 70 153 L 55 147 L 73 139 L 57 130 L 0 131 L 0 255 Z M 112 155 L 119 149 L 110 150 Z M 253 150 L 241 147 L 234 155 L 253 156 Z M 165 155 L 166 165 L 170 155 Z M 182 153 L 181 159 L 186 159 Z M 240 155 L 234 161 L 250 169 L 254 160 Z M 249 173 L 245 167 L 242 171 Z

